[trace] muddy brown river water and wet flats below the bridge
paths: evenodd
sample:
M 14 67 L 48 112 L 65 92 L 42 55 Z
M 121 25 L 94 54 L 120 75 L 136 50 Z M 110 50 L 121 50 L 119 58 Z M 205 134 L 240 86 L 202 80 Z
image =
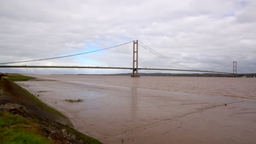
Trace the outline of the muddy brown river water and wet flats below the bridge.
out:
M 253 78 L 32 76 L 19 85 L 103 143 L 256 143 Z

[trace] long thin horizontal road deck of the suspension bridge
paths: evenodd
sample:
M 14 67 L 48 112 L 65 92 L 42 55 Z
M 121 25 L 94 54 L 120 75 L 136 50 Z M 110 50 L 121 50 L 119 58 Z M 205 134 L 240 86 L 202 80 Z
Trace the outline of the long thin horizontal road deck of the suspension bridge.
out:
M 0 65 L 0 68 L 79 68 L 79 69 L 131 69 L 132 68 L 120 68 L 120 67 L 79 67 L 79 66 L 40 66 L 40 65 Z M 221 71 L 207 71 L 207 70 L 184 70 L 184 69 L 158 69 L 158 68 L 138 68 L 138 70 L 173 70 L 173 71 L 196 71 L 205 73 L 221 73 L 221 74 L 233 74 Z

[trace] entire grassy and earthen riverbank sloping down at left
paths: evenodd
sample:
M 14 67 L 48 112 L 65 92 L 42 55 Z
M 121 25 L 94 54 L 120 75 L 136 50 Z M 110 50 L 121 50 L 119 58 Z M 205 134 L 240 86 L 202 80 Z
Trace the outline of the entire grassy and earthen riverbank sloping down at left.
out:
M 101 143 L 71 128 L 62 113 L 15 83 L 31 79 L 18 74 L 1 79 L 0 143 Z

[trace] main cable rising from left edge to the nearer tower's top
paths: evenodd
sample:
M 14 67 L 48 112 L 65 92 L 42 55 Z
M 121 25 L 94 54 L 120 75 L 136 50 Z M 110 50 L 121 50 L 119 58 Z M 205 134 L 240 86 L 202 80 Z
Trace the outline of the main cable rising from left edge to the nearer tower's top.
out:
M 100 49 L 100 50 L 95 50 L 95 51 L 89 51 L 89 52 L 83 52 L 83 53 L 78 53 L 78 54 L 74 54 L 74 55 L 68 55 L 68 56 L 61 56 L 61 57 L 52 57 L 52 58 L 43 58 L 43 59 L 34 59 L 34 60 L 30 60 L 30 61 L 19 61 L 19 62 L 7 62 L 7 63 L 0 63 L 0 64 L 10 64 L 10 63 L 24 63 L 24 62 L 35 62 L 35 61 L 44 61 L 44 60 L 48 60 L 48 59 L 56 59 L 56 58 L 63 58 L 63 57 L 72 57 L 72 56 L 78 56 L 78 55 L 84 55 L 86 53 L 92 53 L 92 52 L 97 52 L 97 51 L 103 51 L 103 50 L 107 50 L 107 49 L 112 49 L 114 47 L 118 47 L 121 45 L 126 45 L 129 43 L 132 43 L 133 41 L 129 41 L 127 43 L 124 44 L 120 44 L 120 45 L 115 45 L 115 46 L 111 46 L 111 47 L 107 47 L 105 49 Z

